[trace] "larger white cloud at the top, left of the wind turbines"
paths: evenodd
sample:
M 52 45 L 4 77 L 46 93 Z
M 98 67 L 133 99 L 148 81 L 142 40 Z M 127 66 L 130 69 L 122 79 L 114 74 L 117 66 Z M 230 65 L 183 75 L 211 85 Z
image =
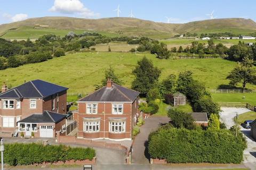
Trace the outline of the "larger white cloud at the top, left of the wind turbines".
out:
M 94 13 L 90 9 L 84 7 L 80 0 L 55 0 L 54 5 L 49 9 L 51 12 L 60 12 L 66 14 L 77 13 L 83 18 L 99 17 L 99 13 Z

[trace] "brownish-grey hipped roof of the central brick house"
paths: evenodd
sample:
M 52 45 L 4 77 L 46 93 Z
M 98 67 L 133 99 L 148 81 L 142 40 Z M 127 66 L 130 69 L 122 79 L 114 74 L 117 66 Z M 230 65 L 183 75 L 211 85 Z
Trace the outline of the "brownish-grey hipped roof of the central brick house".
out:
M 139 96 L 138 91 L 134 91 L 113 83 L 111 88 L 107 86 L 93 92 L 92 94 L 78 100 L 90 102 L 133 102 Z

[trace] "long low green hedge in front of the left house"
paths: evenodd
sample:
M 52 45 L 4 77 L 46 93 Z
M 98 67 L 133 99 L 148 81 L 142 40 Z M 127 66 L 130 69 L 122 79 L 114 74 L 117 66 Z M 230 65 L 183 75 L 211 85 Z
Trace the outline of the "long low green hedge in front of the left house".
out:
M 92 148 L 71 148 L 65 145 L 43 146 L 37 143 L 12 143 L 4 146 L 4 163 L 11 166 L 92 160 L 95 157 L 95 150 Z

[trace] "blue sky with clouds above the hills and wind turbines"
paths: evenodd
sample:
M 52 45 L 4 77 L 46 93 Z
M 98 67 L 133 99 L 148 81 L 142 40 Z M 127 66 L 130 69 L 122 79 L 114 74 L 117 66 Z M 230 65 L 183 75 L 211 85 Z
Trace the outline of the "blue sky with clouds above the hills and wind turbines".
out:
M 113 10 L 120 5 L 119 16 L 129 16 L 156 22 L 185 23 L 209 19 L 214 10 L 217 18 L 250 18 L 256 21 L 255 0 L 1 0 L 0 24 L 42 16 L 72 16 L 107 18 L 117 16 Z

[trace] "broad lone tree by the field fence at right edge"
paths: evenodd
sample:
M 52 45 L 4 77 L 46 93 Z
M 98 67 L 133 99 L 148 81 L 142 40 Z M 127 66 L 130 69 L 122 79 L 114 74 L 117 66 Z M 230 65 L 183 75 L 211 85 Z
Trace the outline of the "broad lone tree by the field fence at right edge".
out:
M 229 84 L 235 86 L 237 83 L 243 84 L 243 91 L 247 83 L 256 84 L 256 69 L 253 65 L 253 60 L 248 57 L 242 62 L 238 62 L 236 67 L 230 72 L 227 77 L 230 80 Z

